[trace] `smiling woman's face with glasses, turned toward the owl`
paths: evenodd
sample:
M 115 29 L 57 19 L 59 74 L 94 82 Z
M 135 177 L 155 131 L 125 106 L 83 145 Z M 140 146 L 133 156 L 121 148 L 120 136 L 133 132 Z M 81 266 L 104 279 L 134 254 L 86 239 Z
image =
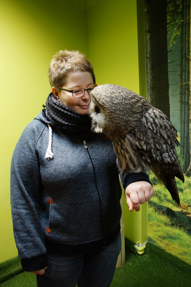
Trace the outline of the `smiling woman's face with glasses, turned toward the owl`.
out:
M 67 73 L 65 80 L 66 84 L 61 88 L 68 90 L 88 88 L 94 84 L 91 73 L 89 72 L 71 71 Z M 59 102 L 68 106 L 76 113 L 85 115 L 89 112 L 91 98 L 87 90 L 85 90 L 84 95 L 80 98 L 74 98 L 71 92 L 56 90 L 54 87 L 52 87 L 52 92 Z

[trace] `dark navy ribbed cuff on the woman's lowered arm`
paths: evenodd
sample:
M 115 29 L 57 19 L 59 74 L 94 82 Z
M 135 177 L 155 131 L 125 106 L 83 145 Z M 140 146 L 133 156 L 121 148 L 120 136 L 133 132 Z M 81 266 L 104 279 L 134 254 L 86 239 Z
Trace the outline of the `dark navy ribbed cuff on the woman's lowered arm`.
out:
M 48 266 L 46 253 L 31 258 L 22 258 L 21 265 L 24 271 L 37 271 Z

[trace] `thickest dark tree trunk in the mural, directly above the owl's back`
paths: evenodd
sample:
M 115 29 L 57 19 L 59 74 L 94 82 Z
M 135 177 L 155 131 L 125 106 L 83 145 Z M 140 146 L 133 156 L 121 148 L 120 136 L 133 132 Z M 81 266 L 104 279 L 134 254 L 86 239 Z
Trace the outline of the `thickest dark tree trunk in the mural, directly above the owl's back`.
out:
M 170 118 L 167 0 L 147 0 L 149 101 Z

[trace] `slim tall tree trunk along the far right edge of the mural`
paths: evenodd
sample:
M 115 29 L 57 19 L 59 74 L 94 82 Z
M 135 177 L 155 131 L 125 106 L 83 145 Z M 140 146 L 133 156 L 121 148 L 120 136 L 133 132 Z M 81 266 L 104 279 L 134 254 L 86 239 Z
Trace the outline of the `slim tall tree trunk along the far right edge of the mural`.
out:
M 184 136 L 184 165 L 183 172 L 189 167 L 190 164 L 190 0 L 187 0 L 186 5 L 186 19 L 185 30 L 186 30 L 186 43 L 184 45 L 186 50 L 185 55 L 185 84 L 183 90 L 185 90 L 185 136 Z

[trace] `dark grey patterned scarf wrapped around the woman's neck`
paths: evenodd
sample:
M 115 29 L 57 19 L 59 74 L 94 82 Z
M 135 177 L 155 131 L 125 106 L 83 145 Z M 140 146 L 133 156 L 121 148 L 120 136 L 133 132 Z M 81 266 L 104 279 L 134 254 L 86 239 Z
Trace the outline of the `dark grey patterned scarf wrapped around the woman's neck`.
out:
M 60 127 L 69 128 L 71 131 L 80 131 L 81 129 L 90 129 L 91 127 L 89 115 L 76 113 L 56 100 L 52 92 L 46 100 L 46 118 Z

